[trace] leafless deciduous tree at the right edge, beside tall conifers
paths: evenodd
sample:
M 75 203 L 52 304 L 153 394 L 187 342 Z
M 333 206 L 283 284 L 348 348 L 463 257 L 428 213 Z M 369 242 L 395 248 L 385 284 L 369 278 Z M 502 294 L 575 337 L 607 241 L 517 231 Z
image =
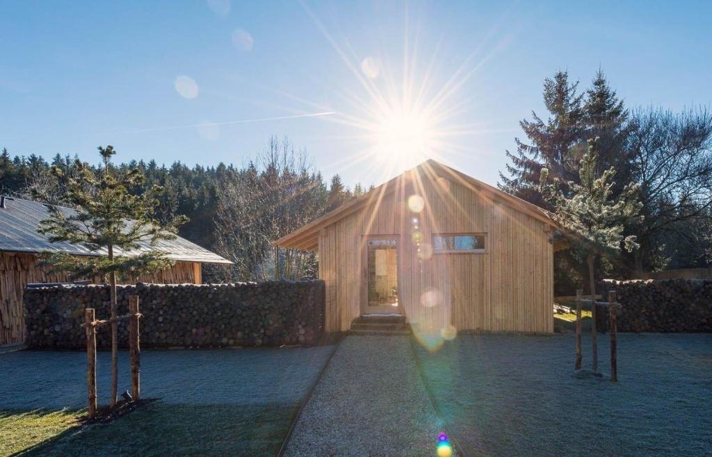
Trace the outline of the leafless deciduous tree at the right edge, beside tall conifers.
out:
M 634 230 L 642 246 L 636 269 L 665 267 L 665 239 L 698 242 L 712 208 L 712 115 L 707 109 L 675 114 L 666 109 L 632 113 L 627 150 L 640 186 L 646 222 Z

